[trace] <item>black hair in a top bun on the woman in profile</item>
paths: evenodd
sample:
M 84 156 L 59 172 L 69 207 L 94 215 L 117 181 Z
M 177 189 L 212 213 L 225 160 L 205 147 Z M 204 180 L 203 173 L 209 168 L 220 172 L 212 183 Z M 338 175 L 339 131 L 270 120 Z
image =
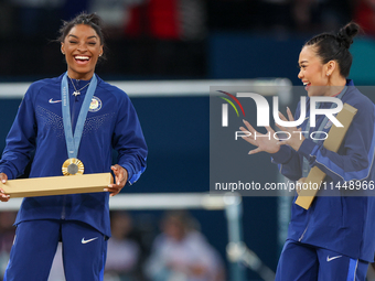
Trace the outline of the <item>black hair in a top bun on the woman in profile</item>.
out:
M 355 22 L 350 22 L 343 26 L 338 34 L 322 33 L 310 39 L 304 46 L 313 46 L 317 55 L 323 64 L 336 61 L 340 74 L 347 77 L 352 66 L 352 54 L 349 51 L 353 43 L 353 37 L 360 32 L 361 28 Z

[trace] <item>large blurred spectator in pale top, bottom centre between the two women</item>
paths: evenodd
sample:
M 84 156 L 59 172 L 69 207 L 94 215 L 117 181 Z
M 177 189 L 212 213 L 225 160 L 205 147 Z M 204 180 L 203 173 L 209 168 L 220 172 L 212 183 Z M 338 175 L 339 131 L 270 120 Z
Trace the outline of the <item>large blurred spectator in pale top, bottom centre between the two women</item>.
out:
M 146 263 L 152 281 L 222 281 L 222 260 L 185 212 L 170 212 L 163 218 L 163 233 L 153 244 Z

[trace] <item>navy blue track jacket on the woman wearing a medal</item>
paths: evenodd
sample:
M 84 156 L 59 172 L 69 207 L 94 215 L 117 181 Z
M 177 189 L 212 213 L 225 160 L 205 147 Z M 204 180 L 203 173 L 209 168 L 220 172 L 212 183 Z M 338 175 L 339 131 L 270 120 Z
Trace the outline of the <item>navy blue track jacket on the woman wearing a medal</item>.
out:
M 62 76 L 33 83 L 28 89 L 0 162 L 0 172 L 10 180 L 21 175 L 35 151 L 30 177 L 62 175 L 68 158 L 62 118 Z M 75 80 L 76 88 L 87 82 Z M 87 87 L 74 97 L 68 83 L 73 131 Z M 85 174 L 110 172 L 113 149 L 117 163 L 125 167 L 130 183 L 146 169 L 147 144 L 129 97 L 97 76 L 97 88 L 88 110 L 77 158 Z M 78 175 L 77 175 L 78 176 Z M 24 198 L 15 224 L 32 219 L 67 219 L 89 224 L 110 236 L 109 193 L 40 196 Z

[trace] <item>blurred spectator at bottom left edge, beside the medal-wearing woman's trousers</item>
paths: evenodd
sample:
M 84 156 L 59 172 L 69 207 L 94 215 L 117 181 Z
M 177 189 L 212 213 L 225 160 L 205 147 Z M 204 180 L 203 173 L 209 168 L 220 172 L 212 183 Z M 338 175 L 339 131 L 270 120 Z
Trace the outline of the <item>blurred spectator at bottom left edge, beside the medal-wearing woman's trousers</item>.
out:
M 15 212 L 0 212 L 0 280 L 4 275 L 15 235 Z

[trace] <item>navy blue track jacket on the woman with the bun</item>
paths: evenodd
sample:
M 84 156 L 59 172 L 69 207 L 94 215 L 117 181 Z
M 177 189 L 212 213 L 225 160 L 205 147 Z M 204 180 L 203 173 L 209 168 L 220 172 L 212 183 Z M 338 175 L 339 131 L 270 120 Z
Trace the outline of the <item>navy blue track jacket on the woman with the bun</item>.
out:
M 279 164 L 280 172 L 292 181 L 302 177 L 303 158 L 309 161 L 311 167 L 318 166 L 326 174 L 324 179 L 326 190 L 319 191 L 320 196 L 314 198 L 308 210 L 292 204 L 288 239 L 333 250 L 354 259 L 373 261 L 375 107 L 354 87 L 352 80 L 347 80 L 346 86 L 347 89 L 341 100 L 355 107 L 357 114 L 338 153 L 323 148 L 323 140 L 315 143 L 311 139 L 306 139 L 298 151 L 281 145 L 280 150 L 272 154 L 272 162 Z M 309 117 L 310 99 L 307 101 Z M 321 108 L 330 107 L 329 102 L 321 104 Z M 296 118 L 299 115 L 300 106 L 297 107 Z M 310 132 L 317 130 L 323 119 L 324 116 L 317 116 L 317 126 L 311 128 Z M 306 130 L 307 122 L 308 120 L 301 125 L 302 131 Z M 330 125 L 328 122 L 324 126 L 325 132 L 330 130 Z M 360 186 L 355 195 L 369 196 L 351 196 L 354 194 L 353 191 L 336 187 L 349 186 L 350 183 L 357 183 Z M 330 196 L 324 196 L 324 193 Z

